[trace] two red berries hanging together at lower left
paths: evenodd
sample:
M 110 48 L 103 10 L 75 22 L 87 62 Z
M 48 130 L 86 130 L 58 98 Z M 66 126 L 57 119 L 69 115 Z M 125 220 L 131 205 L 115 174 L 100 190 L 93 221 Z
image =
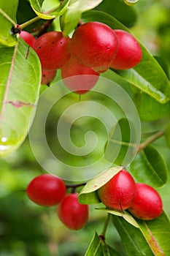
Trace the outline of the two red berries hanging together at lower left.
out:
M 88 221 L 88 205 L 79 203 L 78 193 L 66 194 L 66 185 L 58 176 L 36 176 L 28 184 L 26 194 L 40 206 L 58 205 L 58 218 L 71 230 L 82 229 Z

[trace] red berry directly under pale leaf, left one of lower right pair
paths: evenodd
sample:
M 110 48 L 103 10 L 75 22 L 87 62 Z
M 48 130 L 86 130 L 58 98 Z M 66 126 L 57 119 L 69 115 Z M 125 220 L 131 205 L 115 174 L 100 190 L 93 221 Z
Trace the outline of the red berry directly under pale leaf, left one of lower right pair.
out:
M 120 170 L 107 184 L 98 189 L 98 197 L 108 208 L 122 211 L 131 206 L 136 193 L 134 178 L 127 170 Z

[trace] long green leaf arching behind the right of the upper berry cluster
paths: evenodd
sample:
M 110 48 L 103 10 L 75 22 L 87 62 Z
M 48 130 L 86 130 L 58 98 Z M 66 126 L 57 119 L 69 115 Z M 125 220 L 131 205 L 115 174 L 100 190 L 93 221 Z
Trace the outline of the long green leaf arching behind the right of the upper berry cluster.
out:
M 113 18 L 111 15 L 107 15 L 104 12 L 88 11 L 82 15 L 82 21 L 99 21 L 106 23 L 112 29 L 123 29 L 129 31 L 122 23 Z M 149 94 L 158 102 L 166 103 L 170 99 L 170 84 L 166 77 L 165 72 L 158 64 L 158 61 L 150 54 L 150 52 L 142 48 L 142 60 L 134 67 L 134 69 L 117 70 L 116 72 L 122 76 L 132 86 L 136 86 L 138 89 Z

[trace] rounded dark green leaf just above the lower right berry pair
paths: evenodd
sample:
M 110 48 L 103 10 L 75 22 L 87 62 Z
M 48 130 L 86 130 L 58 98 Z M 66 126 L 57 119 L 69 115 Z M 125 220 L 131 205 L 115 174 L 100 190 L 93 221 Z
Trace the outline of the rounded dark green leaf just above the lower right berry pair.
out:
M 166 162 L 151 145 L 139 151 L 130 165 L 130 170 L 138 182 L 152 187 L 162 187 L 168 179 Z

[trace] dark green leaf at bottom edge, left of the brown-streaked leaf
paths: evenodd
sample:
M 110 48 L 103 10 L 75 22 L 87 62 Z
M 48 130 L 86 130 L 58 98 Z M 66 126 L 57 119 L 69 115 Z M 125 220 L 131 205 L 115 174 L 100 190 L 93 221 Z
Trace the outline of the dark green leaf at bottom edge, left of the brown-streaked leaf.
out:
M 153 256 L 152 250 L 139 228 L 130 225 L 125 219 L 115 215 L 112 216 L 112 220 L 120 234 L 125 252 L 128 256 Z

